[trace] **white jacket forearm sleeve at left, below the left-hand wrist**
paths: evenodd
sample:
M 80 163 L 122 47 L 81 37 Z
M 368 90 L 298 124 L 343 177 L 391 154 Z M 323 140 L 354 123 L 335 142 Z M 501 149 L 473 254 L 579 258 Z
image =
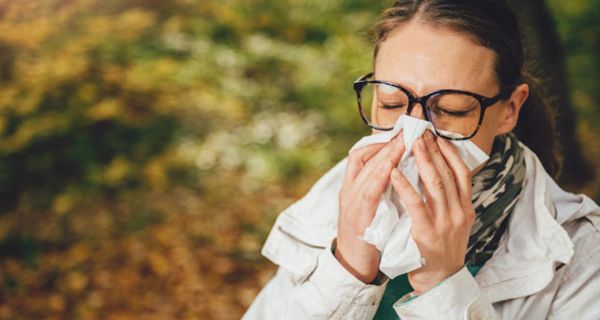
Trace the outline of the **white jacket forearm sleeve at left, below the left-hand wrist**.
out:
M 318 253 L 314 268 L 294 274 L 280 266 L 243 319 L 371 319 L 385 284 L 367 285 L 337 261 L 331 246 Z

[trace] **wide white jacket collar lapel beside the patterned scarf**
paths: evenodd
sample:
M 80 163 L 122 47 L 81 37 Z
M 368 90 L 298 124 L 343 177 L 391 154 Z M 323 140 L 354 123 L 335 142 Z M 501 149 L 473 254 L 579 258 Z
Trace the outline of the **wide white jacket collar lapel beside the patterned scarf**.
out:
M 573 242 L 560 223 L 589 212 L 582 197 L 561 190 L 525 145 L 527 175 L 521 199 L 494 255 L 477 274 L 491 302 L 524 297 L 544 289 L 555 268 L 568 264 Z

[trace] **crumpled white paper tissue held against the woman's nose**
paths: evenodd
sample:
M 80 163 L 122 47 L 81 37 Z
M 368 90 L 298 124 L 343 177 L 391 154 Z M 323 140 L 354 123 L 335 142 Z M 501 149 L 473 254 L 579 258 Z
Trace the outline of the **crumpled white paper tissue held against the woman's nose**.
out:
M 350 149 L 350 152 L 371 144 L 389 142 L 402 130 L 406 151 L 398 163 L 398 169 L 415 190 L 423 194 L 412 147 L 427 129 L 434 131 L 431 122 L 403 115 L 391 131 L 363 137 Z M 457 147 L 469 169 L 474 169 L 489 158 L 470 140 L 452 141 L 452 143 Z M 392 279 L 422 266 L 421 254 L 410 234 L 411 219 L 405 211 L 406 208 L 396 191 L 389 185 L 381 197 L 371 225 L 365 229 L 362 236 L 362 240 L 379 249 L 381 252 L 379 269 Z

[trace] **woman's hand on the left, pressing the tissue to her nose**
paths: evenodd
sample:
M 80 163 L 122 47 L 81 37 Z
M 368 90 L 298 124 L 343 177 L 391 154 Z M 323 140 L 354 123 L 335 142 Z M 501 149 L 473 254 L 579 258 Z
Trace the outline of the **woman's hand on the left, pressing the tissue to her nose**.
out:
M 392 169 L 404 153 L 402 134 L 388 143 L 370 145 L 348 156 L 339 194 L 335 256 L 346 270 L 364 283 L 372 283 L 379 271 L 379 251 L 360 239 L 371 224 Z

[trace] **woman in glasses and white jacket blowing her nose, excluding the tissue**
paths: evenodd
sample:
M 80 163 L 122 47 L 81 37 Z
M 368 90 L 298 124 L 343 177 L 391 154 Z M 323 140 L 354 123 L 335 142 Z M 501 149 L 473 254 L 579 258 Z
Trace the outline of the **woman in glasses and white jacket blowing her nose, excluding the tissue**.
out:
M 375 29 L 361 115 L 374 133 L 433 124 L 412 149 L 425 197 L 395 168 L 399 136 L 353 151 L 278 218 L 263 254 L 279 270 L 244 317 L 599 319 L 600 209 L 552 179 L 551 108 L 505 1 L 400 0 Z M 467 169 L 457 134 L 490 159 Z M 424 262 L 392 280 L 361 240 L 389 184 Z

